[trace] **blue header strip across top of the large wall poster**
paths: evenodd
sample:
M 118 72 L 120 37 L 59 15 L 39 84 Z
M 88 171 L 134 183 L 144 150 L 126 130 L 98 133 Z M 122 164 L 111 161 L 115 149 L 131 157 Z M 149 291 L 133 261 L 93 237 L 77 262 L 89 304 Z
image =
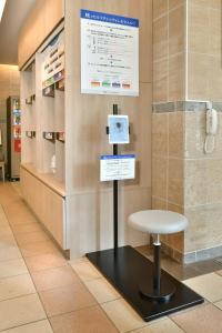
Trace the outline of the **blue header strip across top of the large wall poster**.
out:
M 113 16 L 113 14 L 108 14 L 108 13 L 91 11 L 85 9 L 81 9 L 80 13 L 82 19 L 139 28 L 138 19 L 119 17 L 119 16 Z

